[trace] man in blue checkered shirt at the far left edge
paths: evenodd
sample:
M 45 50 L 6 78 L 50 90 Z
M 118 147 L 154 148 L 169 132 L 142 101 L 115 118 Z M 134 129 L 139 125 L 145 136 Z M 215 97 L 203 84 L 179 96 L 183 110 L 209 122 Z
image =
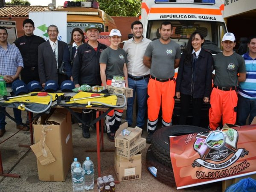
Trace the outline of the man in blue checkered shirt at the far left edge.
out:
M 19 78 L 20 71 L 23 69 L 23 60 L 19 49 L 13 44 L 7 43 L 8 32 L 5 28 L 0 27 L 0 75 L 6 81 L 6 87 L 12 87 L 12 82 Z M 5 110 L 5 108 L 2 108 Z M 21 111 L 13 108 L 16 119 L 16 128 L 23 131 L 29 131 L 24 127 L 21 119 Z M 5 130 L 5 114 L 0 112 L 0 137 L 3 137 Z

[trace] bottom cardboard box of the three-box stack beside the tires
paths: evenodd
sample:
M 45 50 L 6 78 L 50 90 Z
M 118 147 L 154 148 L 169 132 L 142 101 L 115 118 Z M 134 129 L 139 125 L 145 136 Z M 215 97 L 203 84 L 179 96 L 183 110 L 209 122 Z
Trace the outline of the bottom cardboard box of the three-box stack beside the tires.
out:
M 127 159 L 116 155 L 115 171 L 117 179 L 122 181 L 136 180 L 141 178 L 141 153 Z

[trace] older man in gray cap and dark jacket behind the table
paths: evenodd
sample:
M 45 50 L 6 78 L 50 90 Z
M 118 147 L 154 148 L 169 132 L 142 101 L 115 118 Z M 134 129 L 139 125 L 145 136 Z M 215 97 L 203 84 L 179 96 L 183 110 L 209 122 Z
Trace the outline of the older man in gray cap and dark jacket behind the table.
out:
M 80 87 L 82 84 L 95 86 L 102 83 L 99 73 L 99 56 L 107 46 L 97 41 L 101 28 L 90 24 L 85 28 L 85 32 L 88 41 L 76 50 L 72 68 L 72 76 L 76 87 Z M 92 112 L 91 109 L 84 109 L 82 112 L 82 120 L 87 122 L 82 124 L 84 138 L 90 138 L 88 125 L 92 119 Z

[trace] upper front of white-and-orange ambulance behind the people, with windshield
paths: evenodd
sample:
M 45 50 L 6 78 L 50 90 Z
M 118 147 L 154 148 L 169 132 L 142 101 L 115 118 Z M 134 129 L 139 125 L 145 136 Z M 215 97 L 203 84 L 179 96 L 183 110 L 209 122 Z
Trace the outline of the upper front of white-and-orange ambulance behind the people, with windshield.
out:
M 221 37 L 227 32 L 222 8 L 224 0 L 143 0 L 143 35 L 151 40 L 160 38 L 159 27 L 168 20 L 172 23 L 171 38 L 182 51 L 192 32 L 198 30 L 204 35 L 204 48 L 220 52 Z

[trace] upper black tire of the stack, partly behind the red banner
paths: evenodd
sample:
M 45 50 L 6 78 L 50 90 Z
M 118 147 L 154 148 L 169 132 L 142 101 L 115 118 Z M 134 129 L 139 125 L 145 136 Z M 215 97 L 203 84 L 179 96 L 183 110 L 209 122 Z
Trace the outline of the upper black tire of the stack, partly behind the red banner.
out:
M 185 134 L 200 133 L 209 131 L 207 128 L 195 127 L 191 125 L 173 125 L 158 129 L 152 137 L 152 151 L 154 157 L 165 166 L 172 167 L 170 158 L 169 136 L 179 136 Z

